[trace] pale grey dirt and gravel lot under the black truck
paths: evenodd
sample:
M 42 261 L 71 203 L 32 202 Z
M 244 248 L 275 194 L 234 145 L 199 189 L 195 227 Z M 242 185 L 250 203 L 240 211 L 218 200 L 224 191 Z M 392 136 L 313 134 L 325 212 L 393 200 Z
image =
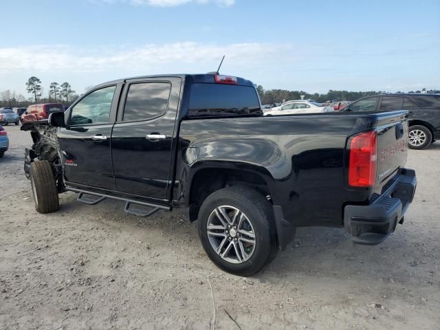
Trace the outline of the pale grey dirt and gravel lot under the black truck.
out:
M 382 245 L 300 228 L 264 272 L 221 272 L 181 214 L 61 195 L 38 214 L 23 175 L 28 133 L 0 159 L 0 329 L 440 329 L 440 143 L 410 151 L 415 201 Z M 215 321 L 215 322 L 214 322 Z

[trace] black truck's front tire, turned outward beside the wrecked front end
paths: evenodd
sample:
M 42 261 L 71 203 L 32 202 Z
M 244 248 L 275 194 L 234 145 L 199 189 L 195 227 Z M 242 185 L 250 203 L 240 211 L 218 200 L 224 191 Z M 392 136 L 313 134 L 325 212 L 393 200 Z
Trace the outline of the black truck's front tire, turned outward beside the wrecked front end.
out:
M 35 209 L 39 213 L 58 210 L 58 191 L 52 166 L 47 160 L 39 160 L 30 164 L 30 182 L 34 194 Z

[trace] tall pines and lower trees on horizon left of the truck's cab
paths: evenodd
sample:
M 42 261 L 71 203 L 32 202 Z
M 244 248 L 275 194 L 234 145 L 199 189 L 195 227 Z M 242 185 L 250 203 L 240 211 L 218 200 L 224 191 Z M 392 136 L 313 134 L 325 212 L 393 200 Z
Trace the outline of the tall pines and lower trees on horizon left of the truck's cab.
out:
M 16 91 L 10 91 L 10 89 L 0 92 L 0 107 L 28 107 L 30 104 L 36 103 L 63 103 L 69 106 L 79 98 L 79 95 L 67 82 L 50 83 L 47 96 L 44 97 L 41 80 L 35 76 L 30 77 L 26 82 L 26 90 L 30 94 L 30 98 L 25 98 L 23 94 L 17 94 Z

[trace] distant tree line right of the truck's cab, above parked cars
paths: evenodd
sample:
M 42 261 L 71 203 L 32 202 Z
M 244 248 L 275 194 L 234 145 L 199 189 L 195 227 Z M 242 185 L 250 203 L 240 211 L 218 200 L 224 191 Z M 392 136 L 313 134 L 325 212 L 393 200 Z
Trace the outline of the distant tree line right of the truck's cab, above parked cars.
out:
M 274 104 L 281 103 L 287 100 L 300 100 L 301 96 L 304 99 L 313 99 L 317 102 L 323 103 L 327 100 L 335 101 L 354 101 L 358 98 L 363 98 L 364 96 L 370 96 L 375 94 L 386 94 L 385 91 L 335 91 L 330 89 L 326 94 L 310 94 L 307 91 L 288 91 L 287 89 L 269 89 L 265 90 L 263 86 L 258 85 L 256 90 L 259 93 L 261 104 Z M 421 91 L 426 91 L 427 93 L 440 93 L 440 89 L 421 89 L 417 91 L 408 91 L 408 93 L 421 93 Z M 396 94 L 401 94 L 402 91 L 397 91 Z

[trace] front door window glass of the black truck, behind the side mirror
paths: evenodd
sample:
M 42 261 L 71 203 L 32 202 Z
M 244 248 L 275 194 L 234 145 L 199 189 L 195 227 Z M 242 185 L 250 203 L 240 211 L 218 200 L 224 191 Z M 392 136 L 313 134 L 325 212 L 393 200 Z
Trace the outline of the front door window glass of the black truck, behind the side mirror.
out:
M 111 102 L 116 86 L 92 91 L 72 109 L 69 124 L 104 124 L 109 122 Z

